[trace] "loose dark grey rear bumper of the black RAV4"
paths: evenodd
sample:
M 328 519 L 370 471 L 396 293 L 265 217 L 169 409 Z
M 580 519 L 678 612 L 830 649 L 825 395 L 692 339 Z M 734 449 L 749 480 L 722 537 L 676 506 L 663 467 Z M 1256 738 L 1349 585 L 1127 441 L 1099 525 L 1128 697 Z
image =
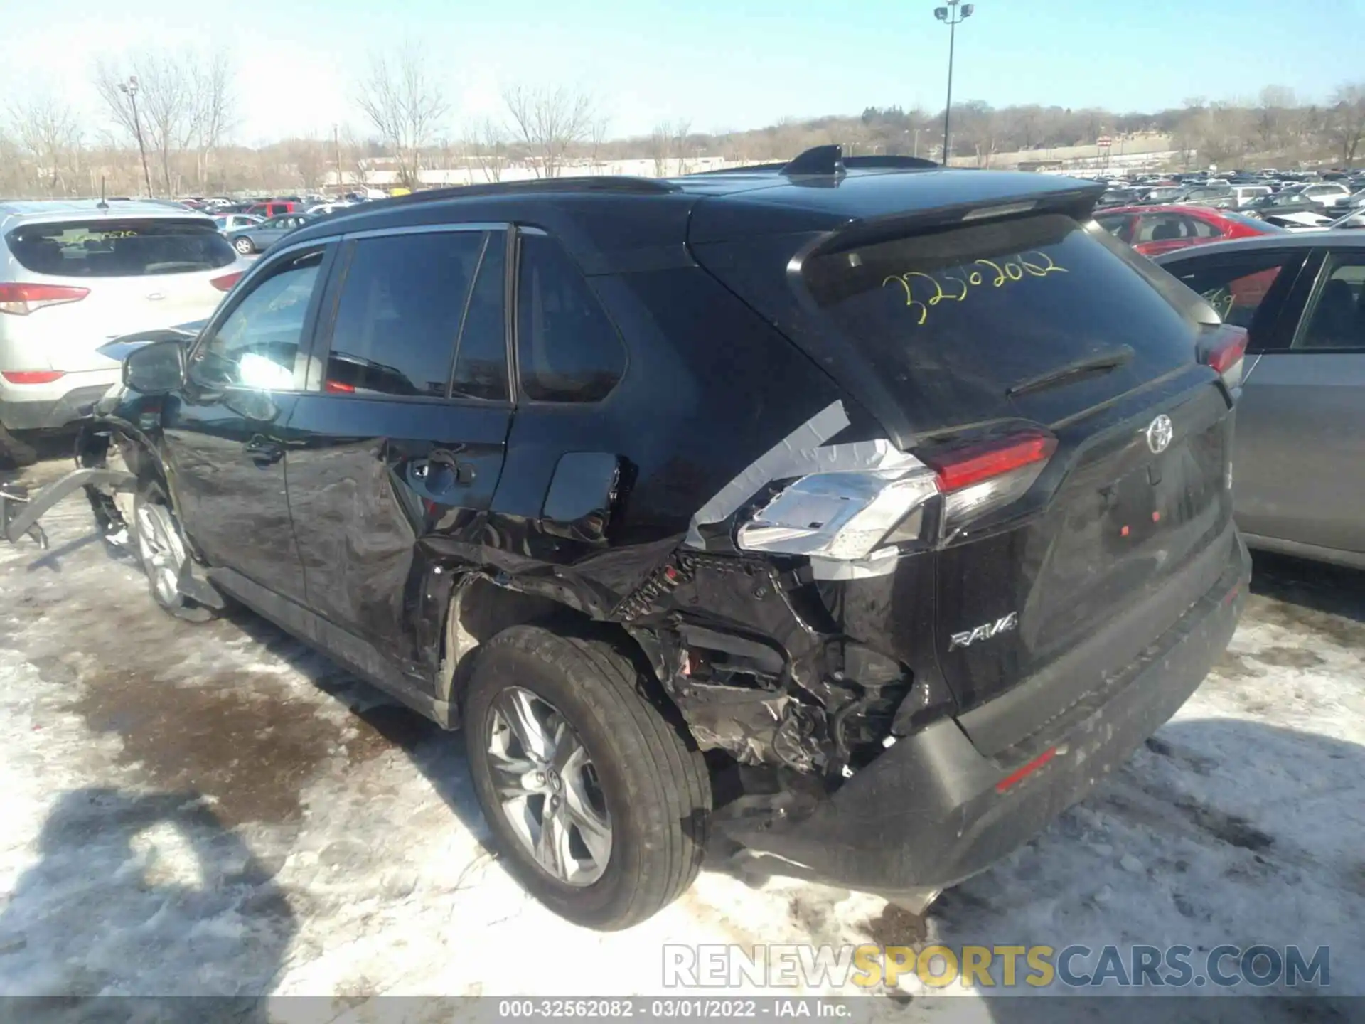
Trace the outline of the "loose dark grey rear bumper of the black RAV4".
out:
M 1072 709 L 1059 733 L 1044 729 L 987 758 L 943 720 L 900 740 L 808 815 L 722 814 L 717 827 L 766 855 L 777 874 L 871 892 L 943 889 L 990 867 L 1127 760 L 1198 688 L 1246 599 L 1250 557 L 1241 538 L 1231 547 L 1218 583 L 1121 679 Z

